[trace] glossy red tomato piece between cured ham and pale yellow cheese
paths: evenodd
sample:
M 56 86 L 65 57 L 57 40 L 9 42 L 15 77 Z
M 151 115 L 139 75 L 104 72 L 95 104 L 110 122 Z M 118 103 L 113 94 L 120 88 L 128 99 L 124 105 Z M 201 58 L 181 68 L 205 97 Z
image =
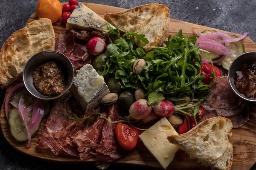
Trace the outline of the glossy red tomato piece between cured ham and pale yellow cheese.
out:
M 140 130 L 119 122 L 116 125 L 116 139 L 125 150 L 133 150 L 139 140 Z

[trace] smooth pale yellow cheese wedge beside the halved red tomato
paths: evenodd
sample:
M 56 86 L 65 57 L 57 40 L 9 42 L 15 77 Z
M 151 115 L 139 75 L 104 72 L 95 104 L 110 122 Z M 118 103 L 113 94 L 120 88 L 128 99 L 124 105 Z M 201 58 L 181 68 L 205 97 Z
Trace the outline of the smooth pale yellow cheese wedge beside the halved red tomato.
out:
M 171 123 L 163 117 L 149 129 L 140 134 L 140 139 L 149 152 L 164 169 L 172 162 L 179 147 L 171 144 L 167 136 L 178 135 Z

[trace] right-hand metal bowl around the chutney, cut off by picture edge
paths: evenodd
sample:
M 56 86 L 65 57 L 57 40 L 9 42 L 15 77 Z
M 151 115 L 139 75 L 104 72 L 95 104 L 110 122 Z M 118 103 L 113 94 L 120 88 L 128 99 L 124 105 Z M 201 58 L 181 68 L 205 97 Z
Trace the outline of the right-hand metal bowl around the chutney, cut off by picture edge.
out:
M 239 55 L 234 59 L 234 61 L 231 63 L 229 71 L 228 71 L 228 81 L 230 83 L 231 88 L 233 91 L 242 99 L 250 101 L 250 102 L 256 102 L 256 99 L 249 98 L 244 96 L 244 94 L 241 94 L 235 86 L 234 83 L 234 77 L 236 75 L 236 71 L 241 71 L 243 68 L 244 64 L 256 62 L 256 52 L 247 52 L 244 54 Z

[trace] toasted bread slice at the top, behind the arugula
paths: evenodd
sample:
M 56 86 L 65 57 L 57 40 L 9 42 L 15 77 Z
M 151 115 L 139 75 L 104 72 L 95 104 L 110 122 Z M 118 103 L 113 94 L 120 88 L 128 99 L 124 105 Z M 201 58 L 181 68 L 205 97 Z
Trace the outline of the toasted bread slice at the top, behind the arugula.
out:
M 113 26 L 124 28 L 130 32 L 145 34 L 149 43 L 144 46 L 144 49 L 149 51 L 151 46 L 162 45 L 166 38 L 169 13 L 168 7 L 152 3 L 118 13 L 107 13 L 104 15 L 104 19 Z

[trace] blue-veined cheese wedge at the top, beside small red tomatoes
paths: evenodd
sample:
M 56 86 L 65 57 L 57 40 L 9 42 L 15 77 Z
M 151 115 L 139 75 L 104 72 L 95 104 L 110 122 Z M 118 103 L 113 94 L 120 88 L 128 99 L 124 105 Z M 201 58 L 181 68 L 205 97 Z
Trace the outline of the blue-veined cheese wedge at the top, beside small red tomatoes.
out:
M 108 23 L 98 14 L 87 8 L 84 4 L 79 3 L 70 17 L 67 19 L 67 30 L 77 29 L 77 30 L 85 30 L 85 31 L 108 31 L 108 26 L 102 26 L 105 23 Z M 115 28 L 114 26 L 112 26 Z

